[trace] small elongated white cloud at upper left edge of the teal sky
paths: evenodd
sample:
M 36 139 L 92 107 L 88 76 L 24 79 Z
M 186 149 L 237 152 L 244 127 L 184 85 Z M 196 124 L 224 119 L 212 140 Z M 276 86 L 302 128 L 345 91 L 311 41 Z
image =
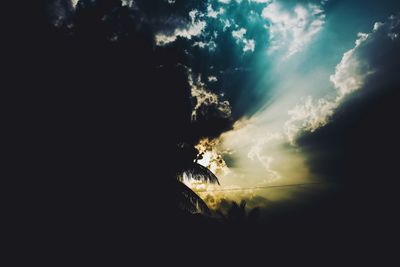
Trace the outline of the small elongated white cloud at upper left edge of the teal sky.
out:
M 201 35 L 206 28 L 207 23 L 204 20 L 199 19 L 199 17 L 201 17 L 199 14 L 200 13 L 197 10 L 193 10 L 189 13 L 191 21 L 185 27 L 176 28 L 171 33 L 157 33 L 155 36 L 156 44 L 164 46 L 175 42 L 178 37 L 192 39 L 194 36 Z

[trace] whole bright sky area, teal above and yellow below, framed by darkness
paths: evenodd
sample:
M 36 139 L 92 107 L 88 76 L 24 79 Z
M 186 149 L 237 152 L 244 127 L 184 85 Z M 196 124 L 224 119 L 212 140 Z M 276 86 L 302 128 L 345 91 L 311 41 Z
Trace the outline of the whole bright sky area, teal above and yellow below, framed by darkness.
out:
M 298 139 L 329 124 L 379 75 L 371 55 L 380 42 L 395 45 L 387 53 L 397 50 L 396 8 L 393 1 L 208 1 L 186 28 L 159 33 L 160 46 L 188 40 L 196 107 L 208 99 L 234 121 L 198 145 L 199 163 L 221 186 L 188 184 L 215 207 L 226 198 L 254 206 L 299 201 L 299 191 L 331 186 L 309 166 L 309 154 L 320 151 L 305 151 Z M 274 187 L 304 183 L 311 185 Z

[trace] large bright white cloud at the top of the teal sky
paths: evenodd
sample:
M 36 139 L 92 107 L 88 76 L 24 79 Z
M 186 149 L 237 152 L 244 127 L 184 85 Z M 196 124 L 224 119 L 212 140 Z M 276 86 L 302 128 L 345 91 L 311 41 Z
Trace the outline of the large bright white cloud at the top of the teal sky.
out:
M 278 2 L 273 2 L 262 11 L 268 21 L 269 53 L 284 50 L 288 58 L 311 42 L 325 23 L 325 14 L 316 4 L 297 5 L 287 10 Z

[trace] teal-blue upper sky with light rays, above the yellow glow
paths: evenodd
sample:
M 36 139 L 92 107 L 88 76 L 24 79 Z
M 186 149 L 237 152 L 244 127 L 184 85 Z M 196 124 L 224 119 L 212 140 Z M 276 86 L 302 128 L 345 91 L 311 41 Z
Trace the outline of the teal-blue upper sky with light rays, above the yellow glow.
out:
M 272 5 L 279 6 L 275 14 L 278 18 L 288 14 L 290 19 L 295 19 L 296 7 L 305 8 L 305 26 L 296 37 L 284 36 L 292 34 L 293 24 L 286 25 L 281 34 L 271 38 L 268 27 L 274 22 L 265 15 L 269 11 L 264 10 Z M 354 46 L 357 34 L 370 31 L 375 22 L 395 14 L 398 6 L 395 1 L 209 0 L 204 8 L 193 9 L 196 11 L 193 22 L 206 23 L 201 34 L 178 37 L 168 45 L 179 45 L 187 51 L 188 67 L 202 76 L 210 90 L 223 94 L 238 119 L 285 94 L 284 87 L 292 86 L 290 80 L 296 77 L 312 75 L 309 90 L 318 87 L 313 93 L 325 94 L 329 84 L 323 83 L 329 80 L 343 53 Z M 311 15 L 315 10 L 320 13 Z M 310 33 L 313 31 L 310 23 L 314 21 L 322 24 L 316 33 Z M 300 40 L 300 47 L 285 58 L 296 39 Z M 244 51 L 251 42 L 254 47 L 248 46 Z M 271 52 L 275 43 L 281 47 Z M 215 76 L 217 81 L 208 83 L 208 76 Z

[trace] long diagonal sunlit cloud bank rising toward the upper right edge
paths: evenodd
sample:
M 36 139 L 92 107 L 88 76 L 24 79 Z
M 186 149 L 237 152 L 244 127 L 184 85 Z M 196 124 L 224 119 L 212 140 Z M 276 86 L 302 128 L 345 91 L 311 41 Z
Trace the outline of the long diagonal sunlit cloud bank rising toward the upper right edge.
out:
M 314 132 L 326 125 L 349 95 L 365 87 L 368 79 L 382 68 L 375 66 L 377 59 L 373 55 L 379 51 L 378 57 L 382 58 L 384 51 L 379 46 L 387 46 L 381 44 L 382 41 L 399 41 L 398 26 L 399 18 L 392 16 L 385 23 L 375 23 L 370 33 L 358 34 L 355 46 L 344 53 L 335 73 L 330 76 L 335 91 L 319 99 L 308 96 L 288 111 L 290 119 L 285 123 L 285 133 L 291 143 L 299 134 Z

